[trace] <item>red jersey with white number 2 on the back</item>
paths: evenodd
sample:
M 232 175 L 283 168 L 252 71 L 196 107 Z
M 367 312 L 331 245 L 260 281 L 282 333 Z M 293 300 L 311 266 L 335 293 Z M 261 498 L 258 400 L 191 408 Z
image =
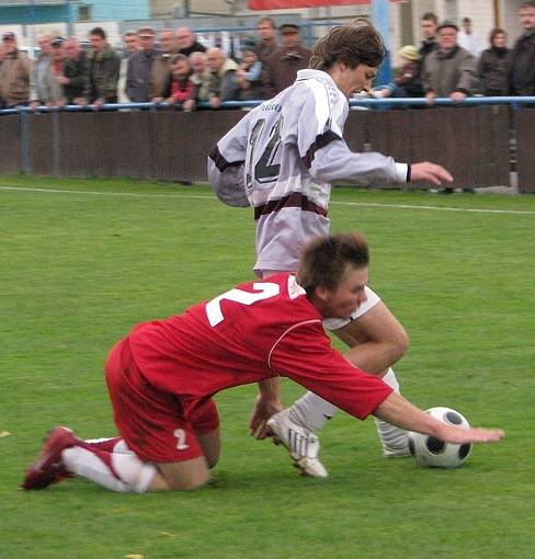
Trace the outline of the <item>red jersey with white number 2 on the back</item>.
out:
M 277 375 L 360 419 L 391 392 L 331 346 L 322 317 L 288 273 L 138 324 L 129 344 L 145 379 L 180 397 L 185 414 L 219 390 Z

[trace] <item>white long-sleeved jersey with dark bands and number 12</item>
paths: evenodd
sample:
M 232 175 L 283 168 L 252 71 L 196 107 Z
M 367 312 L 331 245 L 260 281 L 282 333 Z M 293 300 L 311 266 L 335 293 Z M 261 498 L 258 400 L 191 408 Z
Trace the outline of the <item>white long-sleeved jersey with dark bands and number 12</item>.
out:
M 219 199 L 254 208 L 255 270 L 296 270 L 300 248 L 329 232 L 332 182 L 407 180 L 407 164 L 349 149 L 348 113 L 328 73 L 299 70 L 293 85 L 248 113 L 212 150 L 208 178 Z

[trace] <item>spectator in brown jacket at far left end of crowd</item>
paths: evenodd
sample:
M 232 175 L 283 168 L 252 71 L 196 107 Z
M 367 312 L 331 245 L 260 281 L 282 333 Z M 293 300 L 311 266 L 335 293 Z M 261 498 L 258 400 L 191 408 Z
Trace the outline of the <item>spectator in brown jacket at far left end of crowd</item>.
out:
M 3 60 L 0 66 L 0 99 L 5 107 L 27 105 L 30 102 L 31 62 L 16 46 L 16 36 L 2 34 Z

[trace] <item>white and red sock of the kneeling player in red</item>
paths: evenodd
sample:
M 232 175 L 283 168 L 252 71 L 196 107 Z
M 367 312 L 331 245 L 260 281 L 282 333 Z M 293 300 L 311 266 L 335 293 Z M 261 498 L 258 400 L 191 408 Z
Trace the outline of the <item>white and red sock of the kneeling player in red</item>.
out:
M 112 491 L 144 493 L 150 486 L 156 467 L 138 458 L 132 450 L 110 453 L 81 443 L 61 453 L 65 467 Z

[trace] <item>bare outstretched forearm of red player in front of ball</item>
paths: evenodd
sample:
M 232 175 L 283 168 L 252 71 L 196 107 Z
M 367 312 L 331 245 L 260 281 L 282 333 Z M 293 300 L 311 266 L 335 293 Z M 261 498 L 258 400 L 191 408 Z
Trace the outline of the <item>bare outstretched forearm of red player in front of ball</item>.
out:
M 435 436 L 446 443 L 493 443 L 504 436 L 501 429 L 448 425 L 420 410 L 402 396 L 391 392 L 375 409 L 374 415 L 408 431 Z

